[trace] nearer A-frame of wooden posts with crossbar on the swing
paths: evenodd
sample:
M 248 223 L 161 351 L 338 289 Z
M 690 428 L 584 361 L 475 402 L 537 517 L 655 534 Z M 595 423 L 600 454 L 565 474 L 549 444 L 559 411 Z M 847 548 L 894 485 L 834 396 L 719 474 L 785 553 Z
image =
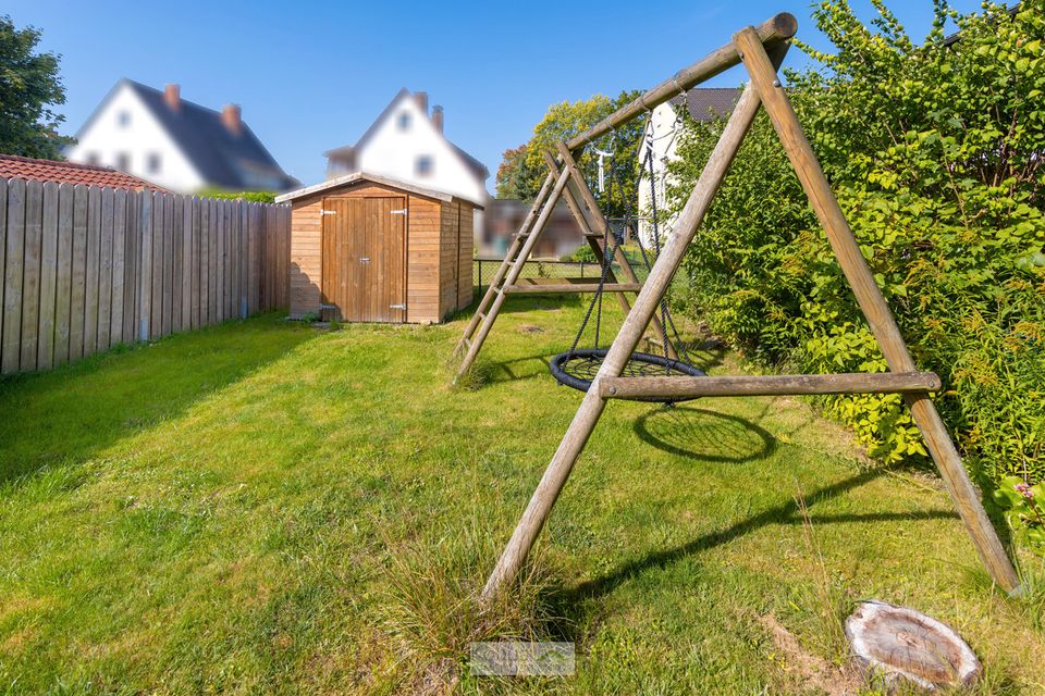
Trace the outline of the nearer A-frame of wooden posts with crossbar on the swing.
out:
M 777 15 L 771 22 L 778 22 L 780 16 Z M 1019 577 L 976 498 L 975 490 L 961 464 L 954 443 L 929 398 L 929 389 L 932 388 L 933 384 L 936 384 L 932 378 L 935 375 L 920 375 L 915 372 L 913 361 L 896 326 L 896 321 L 882 297 L 881 290 L 875 285 L 870 269 L 868 269 L 863 257 L 860 254 L 845 215 L 841 213 L 819 162 L 802 134 L 795 112 L 780 88 L 776 66 L 774 61 L 770 59 L 765 46 L 786 40 L 794 35 L 795 28 L 797 28 L 794 17 L 789 17 L 789 34 L 778 33 L 775 37 L 771 35 L 769 39 L 765 30 L 766 25 L 762 25 L 759 29 L 748 27 L 734 37 L 732 45 L 718 49 L 705 59 L 714 65 L 714 70 L 709 70 L 704 78 L 736 65 L 742 60 L 748 69 L 751 82 L 737 102 L 722 137 L 705 163 L 689 200 L 679 214 L 672 235 L 668 237 L 660 258 L 657 258 L 649 278 L 647 278 L 635 301 L 631 312 L 625 318 L 624 324 L 603 360 L 599 373 L 585 394 L 573 422 L 570 422 L 560 443 L 558 449 L 541 477 L 493 573 L 487 581 L 483 597 L 488 599 L 493 597 L 506 584 L 511 583 L 526 560 L 563 486 L 566 484 L 577 458 L 599 422 L 599 418 L 605 409 L 606 399 L 614 396 L 614 382 L 625 382 L 620 378 L 622 371 L 630 355 L 635 351 L 646 325 L 653 316 L 677 272 L 686 248 L 708 212 L 711 201 L 758 112 L 760 102 L 764 103 L 773 121 L 792 166 L 799 174 L 810 203 L 827 234 L 835 256 L 857 296 L 860 308 L 866 316 L 875 338 L 882 346 L 892 371 L 889 375 L 834 375 L 845 378 L 836 378 L 833 382 L 824 380 L 824 377 L 831 377 L 832 375 L 799 375 L 799 377 L 819 377 L 819 380 L 809 380 L 808 384 L 802 384 L 800 380 L 796 381 L 788 385 L 789 390 L 786 393 L 846 394 L 857 390 L 873 390 L 903 394 L 903 398 L 910 406 L 915 422 L 919 424 L 925 443 L 939 468 L 947 489 L 955 500 L 958 512 L 969 530 L 976 551 L 983 559 L 988 572 L 1004 589 L 1018 591 Z M 779 36 L 779 34 L 784 34 L 784 36 Z M 773 46 L 775 59 L 782 60 L 786 48 L 780 50 L 778 45 Z M 643 97 L 646 96 L 643 95 Z M 640 99 L 640 101 L 642 100 Z M 618 123 L 623 122 L 622 120 L 627 120 L 627 113 L 620 113 Z M 875 378 L 880 376 L 888 376 L 889 380 Z M 627 382 L 641 383 L 646 386 L 646 393 L 650 395 L 659 395 L 671 390 L 667 386 L 659 385 L 674 384 L 673 393 L 678 395 L 679 389 L 685 388 L 683 385 L 686 380 L 688 377 L 632 377 Z M 713 381 L 716 378 L 702 377 L 701 380 Z M 722 381 L 729 378 L 717 380 L 721 384 Z M 607 384 L 604 384 L 604 382 Z M 866 388 L 869 384 L 871 388 Z M 782 393 L 779 390 L 779 378 L 773 377 L 748 377 L 742 390 L 736 390 L 738 388 L 736 385 L 733 388 L 735 389 L 734 393 L 745 395 Z

